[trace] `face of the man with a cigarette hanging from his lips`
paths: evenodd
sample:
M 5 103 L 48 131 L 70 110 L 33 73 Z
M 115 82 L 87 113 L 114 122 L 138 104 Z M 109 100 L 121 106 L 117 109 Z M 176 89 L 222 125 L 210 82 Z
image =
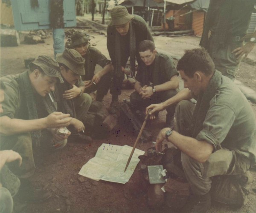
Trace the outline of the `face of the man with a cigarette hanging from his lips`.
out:
M 32 85 L 39 95 L 45 97 L 50 91 L 54 91 L 56 82 L 57 77 L 51 77 L 38 71 L 38 73 L 35 73 Z

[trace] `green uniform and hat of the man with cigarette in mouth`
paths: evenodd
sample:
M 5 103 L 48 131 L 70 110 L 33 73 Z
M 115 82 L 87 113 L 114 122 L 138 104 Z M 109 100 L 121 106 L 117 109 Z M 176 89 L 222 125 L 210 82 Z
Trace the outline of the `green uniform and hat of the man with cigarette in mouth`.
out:
M 37 60 L 32 62 L 38 65 L 45 74 L 52 77 L 58 77 L 63 82 L 60 73 L 58 72 L 58 63 L 48 56 L 39 56 Z M 11 119 L 38 119 L 41 116 L 41 108 L 38 106 L 38 100 L 42 100 L 48 114 L 55 111 L 55 106 L 49 100 L 49 97 L 41 97 L 35 93 L 29 79 L 29 71 L 21 74 L 7 75 L 1 78 L 6 86 L 5 99 L 2 102 L 3 113 L 1 116 L 8 116 Z M 48 115 L 47 114 L 47 115 Z M 49 134 L 49 133 L 48 133 Z M 40 142 L 42 139 L 41 131 L 33 131 L 27 133 L 19 133 L 14 135 L 4 135 L 1 133 L 1 150 L 12 149 L 22 157 L 20 167 L 14 166 L 12 171 L 19 177 L 27 178 L 32 176 L 35 171 L 35 163 L 32 151 L 32 141 Z M 45 141 L 49 142 L 50 141 Z M 59 142 L 60 147 L 66 145 L 67 140 Z

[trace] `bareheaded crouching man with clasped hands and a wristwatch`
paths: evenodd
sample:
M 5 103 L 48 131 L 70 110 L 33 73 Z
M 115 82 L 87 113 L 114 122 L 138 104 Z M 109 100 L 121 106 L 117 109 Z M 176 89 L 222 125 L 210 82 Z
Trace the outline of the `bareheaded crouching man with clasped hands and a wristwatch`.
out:
M 139 45 L 139 53 L 143 64 L 138 67 L 135 92 L 130 95 L 130 100 L 135 107 L 144 112 L 147 106 L 164 102 L 177 94 L 179 73 L 172 58 L 158 53 L 152 41 L 142 41 Z M 170 127 L 175 106 L 169 106 L 166 111 L 166 127 Z

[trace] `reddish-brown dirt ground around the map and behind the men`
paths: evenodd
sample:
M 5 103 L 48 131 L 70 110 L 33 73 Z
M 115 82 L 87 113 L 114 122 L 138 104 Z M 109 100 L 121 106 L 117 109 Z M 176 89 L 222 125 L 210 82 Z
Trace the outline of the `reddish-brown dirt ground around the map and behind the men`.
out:
M 102 29 L 87 24 L 85 30 L 91 36 L 91 44 L 108 56 L 106 36 Z M 68 29 L 67 29 L 68 30 Z M 42 54 L 53 56 L 52 34 L 48 31 L 44 44 L 27 45 L 22 41 L 24 34 L 20 34 L 21 44 L 18 47 L 1 47 L 1 77 L 7 74 L 16 74 L 26 70 L 24 59 L 38 57 Z M 194 36 L 183 37 L 154 37 L 157 48 L 168 51 L 173 56 L 181 56 L 184 49 L 198 47 L 200 38 Z M 249 59 L 241 62 L 241 71 L 237 80 L 256 91 L 256 48 L 249 54 Z M 177 62 L 177 60 L 175 60 Z M 133 90 L 123 90 L 120 100 L 128 99 Z M 92 94 L 94 98 L 94 94 Z M 108 94 L 103 105 L 108 107 L 111 96 Z M 256 113 L 256 105 L 251 103 Z M 154 135 L 164 126 L 165 112 L 161 112 L 157 121 L 148 123 L 148 128 Z M 78 175 L 81 167 L 96 154 L 102 143 L 112 145 L 133 146 L 137 134 L 126 131 L 118 124 L 109 136 L 103 140 L 93 140 L 90 144 L 68 143 L 60 151 L 40 152 L 35 149 L 36 171 L 31 181 L 39 188 L 47 188 L 52 192 L 52 197 L 44 203 L 24 204 L 20 197 L 15 197 L 15 213 L 157 213 L 172 212 L 165 206 L 159 209 L 150 209 L 147 205 L 147 190 L 142 184 L 134 181 L 134 176 L 139 174 L 138 167 L 131 180 L 125 184 L 105 181 L 94 181 Z M 139 143 L 138 149 L 146 151 L 152 143 Z M 140 165 L 140 163 L 139 163 Z M 213 203 L 207 213 L 255 213 L 256 212 L 256 171 L 252 170 L 254 181 L 250 185 L 249 201 L 241 209 L 233 209 L 224 204 Z M 134 192 L 134 194 L 133 194 Z

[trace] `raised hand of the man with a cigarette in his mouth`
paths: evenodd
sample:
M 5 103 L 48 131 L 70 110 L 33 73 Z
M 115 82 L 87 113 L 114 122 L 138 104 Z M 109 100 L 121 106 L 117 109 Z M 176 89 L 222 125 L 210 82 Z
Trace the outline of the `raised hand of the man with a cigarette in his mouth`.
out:
M 46 118 L 46 128 L 61 128 L 70 125 L 72 118 L 70 114 L 64 114 L 62 112 L 53 112 Z

